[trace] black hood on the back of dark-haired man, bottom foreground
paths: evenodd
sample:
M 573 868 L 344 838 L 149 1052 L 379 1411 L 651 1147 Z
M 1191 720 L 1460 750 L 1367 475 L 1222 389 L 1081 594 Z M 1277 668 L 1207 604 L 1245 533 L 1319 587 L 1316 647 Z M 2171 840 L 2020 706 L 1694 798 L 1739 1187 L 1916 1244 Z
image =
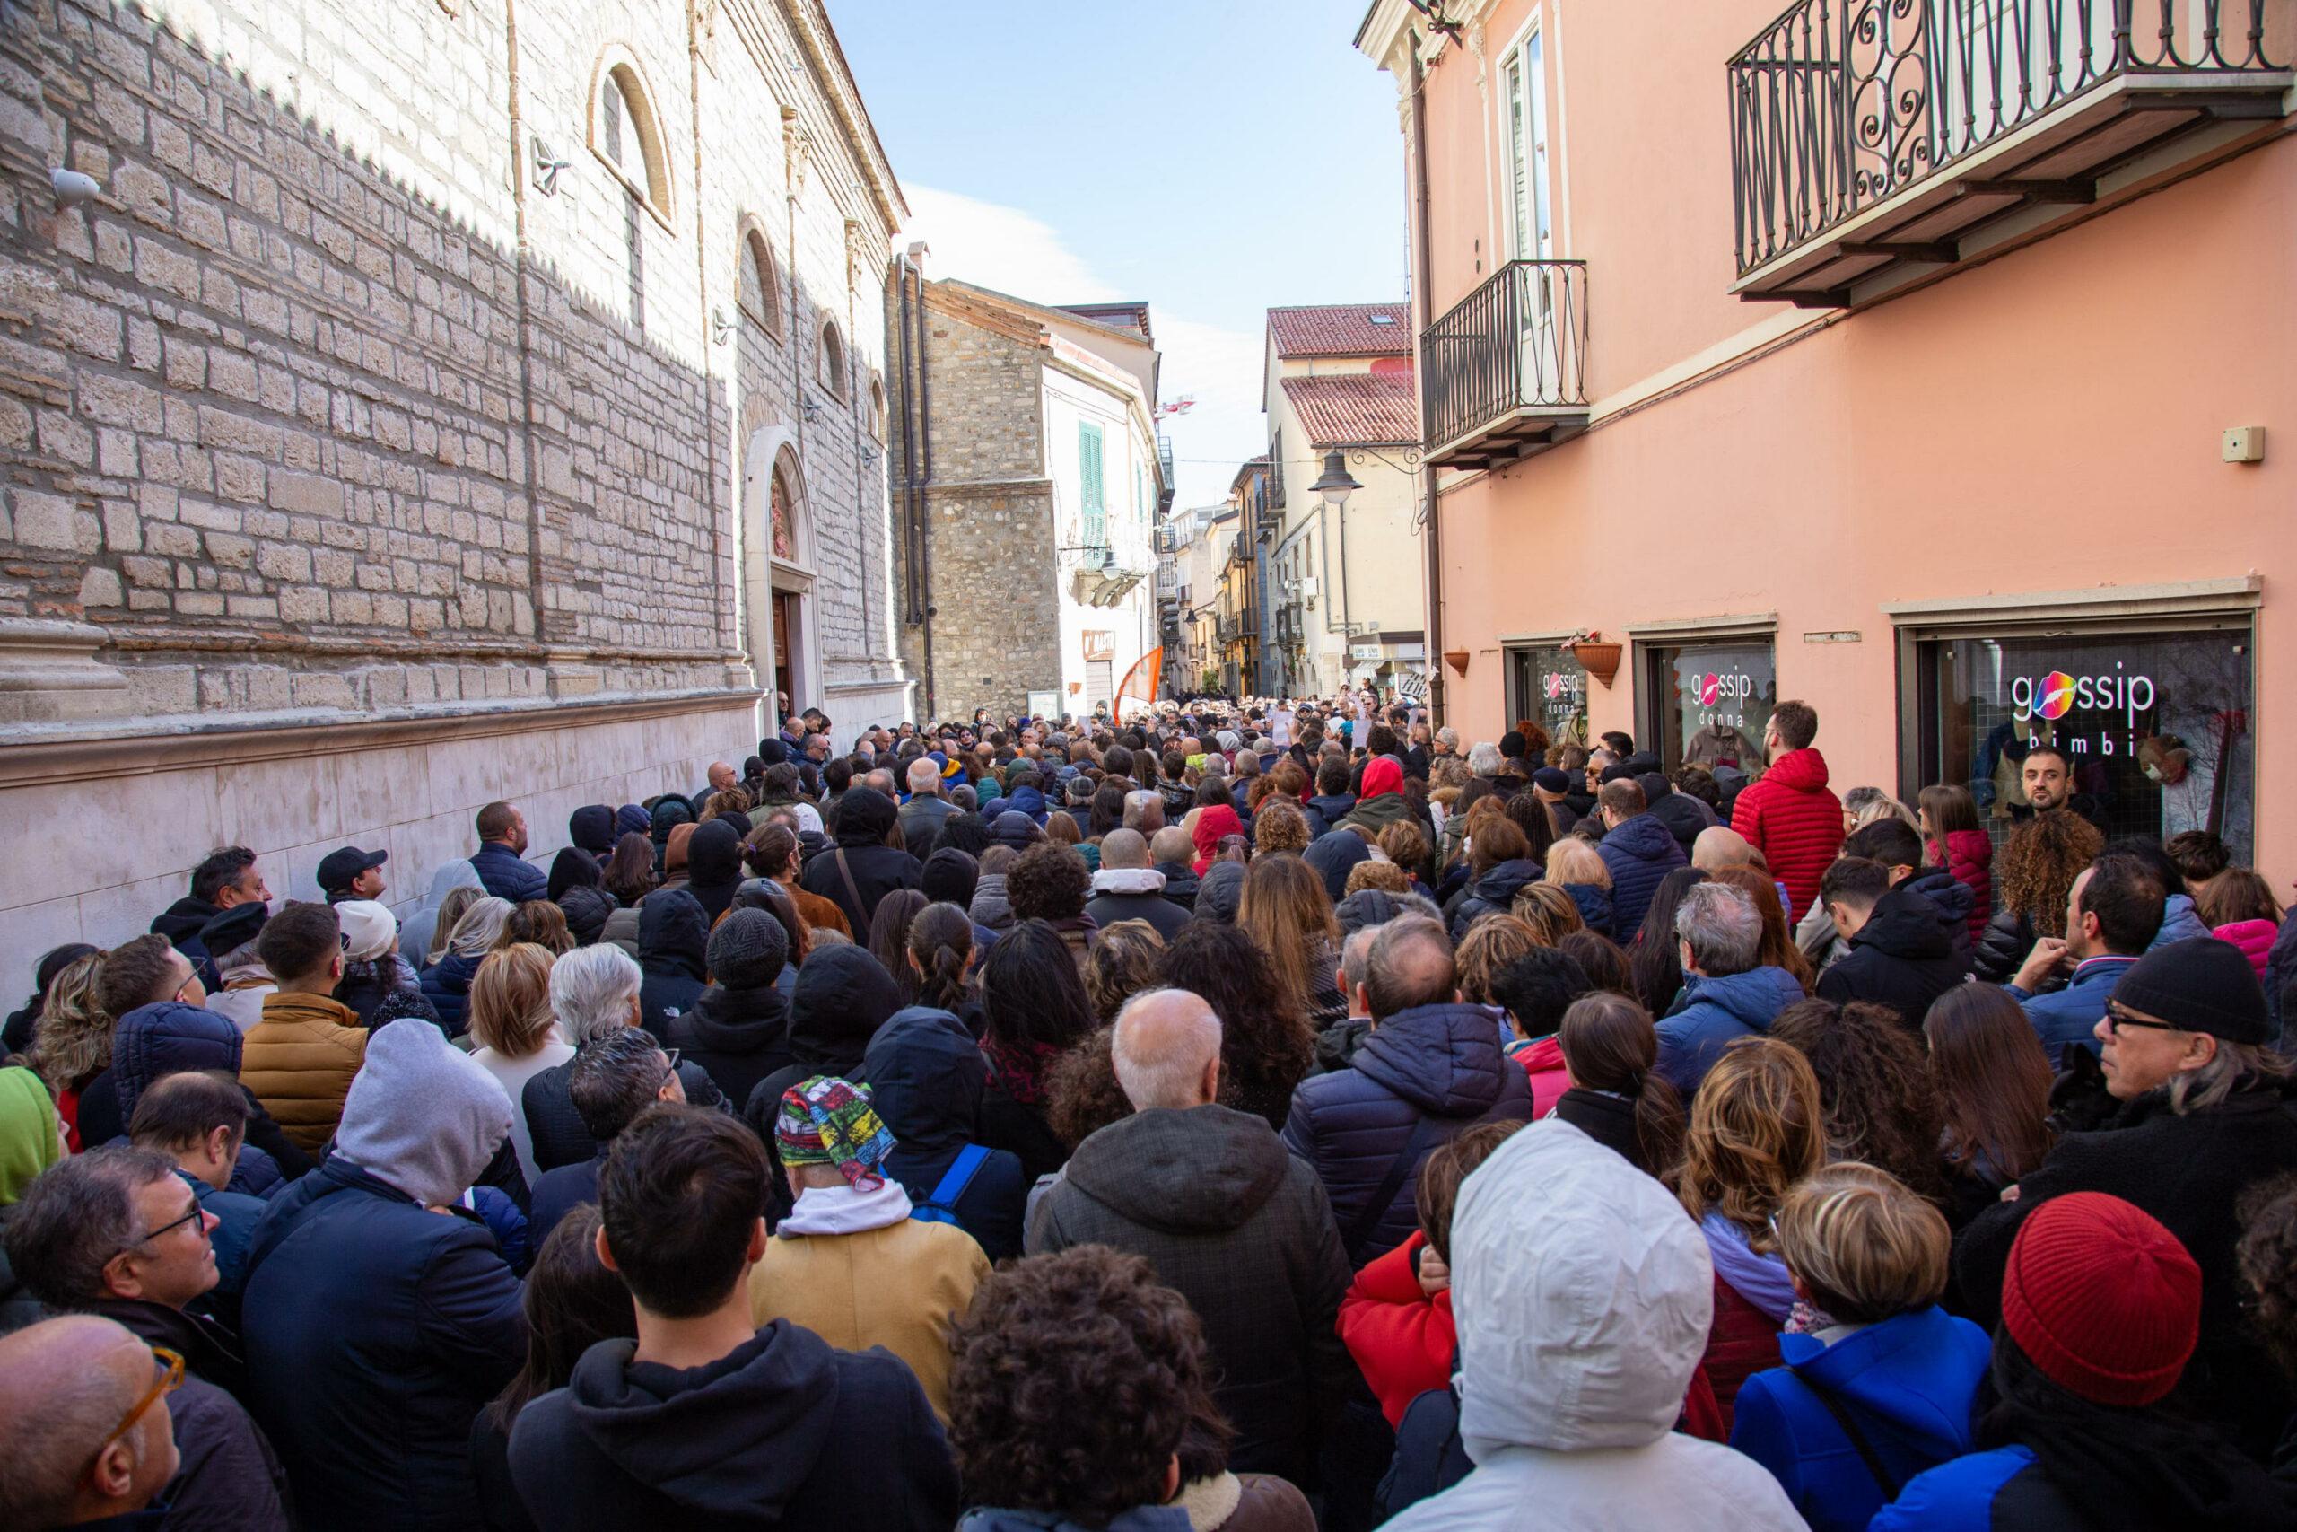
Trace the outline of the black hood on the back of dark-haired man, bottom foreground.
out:
M 567 1415 L 600 1456 L 682 1509 L 779 1525 L 829 1440 L 836 1353 L 774 1321 L 710 1367 L 632 1362 L 600 1341 L 574 1364 Z

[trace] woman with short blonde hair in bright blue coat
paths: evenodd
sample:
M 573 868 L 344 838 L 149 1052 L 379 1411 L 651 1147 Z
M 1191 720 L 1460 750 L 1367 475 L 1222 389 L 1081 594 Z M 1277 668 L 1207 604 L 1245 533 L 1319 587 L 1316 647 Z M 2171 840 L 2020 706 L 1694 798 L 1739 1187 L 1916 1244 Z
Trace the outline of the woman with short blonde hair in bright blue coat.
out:
M 1739 1390 L 1730 1445 L 1815 1532 L 1856 1532 L 1907 1479 L 1971 1452 L 1994 1341 L 1939 1307 L 1946 1217 L 1890 1171 L 1828 1165 L 1771 1227 L 1796 1293 L 1833 1323 L 1780 1337 L 1785 1364 Z

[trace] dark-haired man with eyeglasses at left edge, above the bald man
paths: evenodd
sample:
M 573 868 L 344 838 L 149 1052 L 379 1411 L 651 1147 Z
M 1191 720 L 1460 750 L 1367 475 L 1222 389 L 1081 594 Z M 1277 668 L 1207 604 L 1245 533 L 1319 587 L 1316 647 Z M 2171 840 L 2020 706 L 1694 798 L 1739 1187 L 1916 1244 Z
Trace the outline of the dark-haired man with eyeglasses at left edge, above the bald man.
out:
M 280 1463 L 230 1392 L 246 1383 L 239 1353 L 195 1312 L 216 1286 L 214 1227 L 172 1160 L 122 1144 L 41 1174 L 9 1220 L 7 1249 L 41 1302 L 115 1321 L 138 1351 L 170 1362 L 175 1380 L 158 1410 L 172 1419 L 181 1454 L 181 1468 L 161 1479 L 170 1516 L 181 1525 L 285 1527 Z

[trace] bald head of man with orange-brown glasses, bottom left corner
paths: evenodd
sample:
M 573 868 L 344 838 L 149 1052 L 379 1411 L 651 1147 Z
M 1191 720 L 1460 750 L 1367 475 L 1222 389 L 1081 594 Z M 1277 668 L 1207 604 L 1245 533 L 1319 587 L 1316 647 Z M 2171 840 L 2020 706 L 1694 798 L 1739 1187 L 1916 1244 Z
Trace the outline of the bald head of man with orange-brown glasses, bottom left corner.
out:
M 152 1348 L 110 1318 L 69 1314 L 0 1337 L 0 1525 L 60 1527 L 142 1509 L 177 1470 L 154 1401 L 106 1433 L 154 1380 Z

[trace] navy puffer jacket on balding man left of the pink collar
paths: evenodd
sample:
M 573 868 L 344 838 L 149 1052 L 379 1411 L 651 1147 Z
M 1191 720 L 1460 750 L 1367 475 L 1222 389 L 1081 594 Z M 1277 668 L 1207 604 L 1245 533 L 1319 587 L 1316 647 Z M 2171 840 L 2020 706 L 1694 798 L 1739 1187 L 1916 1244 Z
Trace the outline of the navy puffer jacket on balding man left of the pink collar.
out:
M 1380 1022 L 1353 1068 L 1314 1075 L 1293 1091 L 1284 1146 L 1307 1160 L 1332 1201 L 1351 1266 L 1387 1254 L 1420 1227 L 1420 1162 L 1461 1128 L 1488 1119 L 1530 1121 L 1532 1086 L 1500 1052 L 1491 1011 L 1468 1004 L 1415 1006 Z M 1420 1123 L 1429 1128 L 1420 1132 Z M 1367 1204 L 1420 1135 L 1410 1171 L 1369 1231 Z

